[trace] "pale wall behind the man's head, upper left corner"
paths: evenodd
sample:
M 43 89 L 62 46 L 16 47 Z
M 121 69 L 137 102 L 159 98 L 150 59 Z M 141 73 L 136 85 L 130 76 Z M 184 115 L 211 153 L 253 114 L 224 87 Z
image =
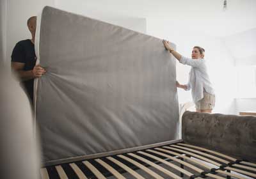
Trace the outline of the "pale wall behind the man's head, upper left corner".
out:
M 6 63 L 10 63 L 13 47 L 20 40 L 31 38 L 27 20 L 38 15 L 46 5 L 54 5 L 54 0 L 8 0 L 6 14 Z M 8 65 L 7 65 L 8 66 Z

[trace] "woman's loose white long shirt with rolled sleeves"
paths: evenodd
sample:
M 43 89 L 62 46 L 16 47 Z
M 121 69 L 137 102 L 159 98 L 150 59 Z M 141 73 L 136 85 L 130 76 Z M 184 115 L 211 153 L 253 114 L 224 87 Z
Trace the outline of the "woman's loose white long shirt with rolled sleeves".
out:
M 204 89 L 207 93 L 214 95 L 205 59 L 190 59 L 182 56 L 180 63 L 191 66 L 187 90 L 191 89 L 193 102 L 204 98 Z

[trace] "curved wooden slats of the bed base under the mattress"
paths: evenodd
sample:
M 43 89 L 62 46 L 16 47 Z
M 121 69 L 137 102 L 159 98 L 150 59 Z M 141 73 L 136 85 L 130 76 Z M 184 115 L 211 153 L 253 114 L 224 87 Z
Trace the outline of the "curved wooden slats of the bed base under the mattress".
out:
M 48 166 L 41 178 L 256 178 L 256 164 L 175 143 L 122 155 Z

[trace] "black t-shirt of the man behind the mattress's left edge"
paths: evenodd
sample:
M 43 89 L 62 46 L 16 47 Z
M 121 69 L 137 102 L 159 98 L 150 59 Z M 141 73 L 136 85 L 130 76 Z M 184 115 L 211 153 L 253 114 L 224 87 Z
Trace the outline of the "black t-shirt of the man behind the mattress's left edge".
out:
M 36 64 L 36 54 L 35 45 L 31 42 L 31 40 L 21 40 L 15 45 L 12 52 L 12 62 L 25 63 L 23 68 L 24 71 L 33 70 Z M 22 85 L 33 103 L 34 79 L 22 81 Z

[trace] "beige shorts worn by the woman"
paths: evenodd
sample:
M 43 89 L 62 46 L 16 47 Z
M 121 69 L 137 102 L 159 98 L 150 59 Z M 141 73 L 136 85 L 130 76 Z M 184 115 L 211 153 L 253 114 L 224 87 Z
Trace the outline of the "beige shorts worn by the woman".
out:
M 213 109 L 215 105 L 215 95 L 207 93 L 204 90 L 204 98 L 196 102 L 196 109 L 199 110 L 206 110 L 206 109 Z

